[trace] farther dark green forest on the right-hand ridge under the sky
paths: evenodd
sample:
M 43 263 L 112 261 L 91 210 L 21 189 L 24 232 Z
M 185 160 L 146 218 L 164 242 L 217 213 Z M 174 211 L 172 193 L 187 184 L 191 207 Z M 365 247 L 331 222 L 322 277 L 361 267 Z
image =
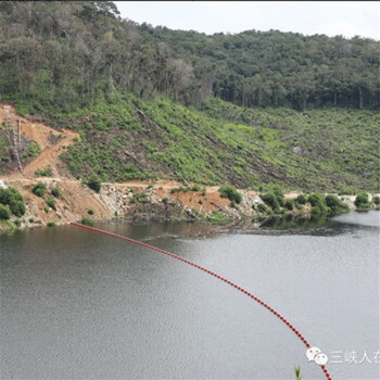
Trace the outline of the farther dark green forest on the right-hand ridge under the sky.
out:
M 379 106 L 379 42 L 278 30 L 237 35 L 140 30 L 191 63 L 199 84 L 245 106 Z M 208 76 L 207 76 L 208 75 Z

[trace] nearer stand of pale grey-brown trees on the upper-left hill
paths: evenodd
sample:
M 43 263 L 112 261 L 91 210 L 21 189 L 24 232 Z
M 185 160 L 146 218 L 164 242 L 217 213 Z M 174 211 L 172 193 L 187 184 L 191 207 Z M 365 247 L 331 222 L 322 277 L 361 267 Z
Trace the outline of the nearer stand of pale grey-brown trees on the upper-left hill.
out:
M 1 2 L 0 96 L 68 110 L 121 93 L 179 99 L 192 67 L 111 2 Z

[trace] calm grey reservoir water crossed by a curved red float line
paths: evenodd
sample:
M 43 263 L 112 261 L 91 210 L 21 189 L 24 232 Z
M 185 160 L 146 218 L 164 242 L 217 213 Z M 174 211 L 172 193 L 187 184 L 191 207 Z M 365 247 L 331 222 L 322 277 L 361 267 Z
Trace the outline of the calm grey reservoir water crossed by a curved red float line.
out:
M 379 216 L 284 233 L 199 225 L 101 228 L 177 253 L 282 313 L 333 379 L 377 379 Z M 300 233 L 302 232 L 302 233 Z M 324 379 L 296 335 L 246 295 L 170 257 L 77 227 L 0 237 L 2 379 Z M 333 357 L 332 357 L 333 356 Z M 332 359 L 331 359 L 332 357 Z

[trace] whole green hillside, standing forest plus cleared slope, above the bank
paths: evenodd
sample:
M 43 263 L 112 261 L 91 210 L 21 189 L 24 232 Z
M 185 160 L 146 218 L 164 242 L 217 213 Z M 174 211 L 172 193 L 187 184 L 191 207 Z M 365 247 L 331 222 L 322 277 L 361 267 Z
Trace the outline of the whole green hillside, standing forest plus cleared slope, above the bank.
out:
M 111 2 L 0 2 L 0 100 L 79 132 L 60 155 L 78 179 L 377 191 L 378 49 L 138 26 Z M 0 175 L 16 167 L 7 139 Z

